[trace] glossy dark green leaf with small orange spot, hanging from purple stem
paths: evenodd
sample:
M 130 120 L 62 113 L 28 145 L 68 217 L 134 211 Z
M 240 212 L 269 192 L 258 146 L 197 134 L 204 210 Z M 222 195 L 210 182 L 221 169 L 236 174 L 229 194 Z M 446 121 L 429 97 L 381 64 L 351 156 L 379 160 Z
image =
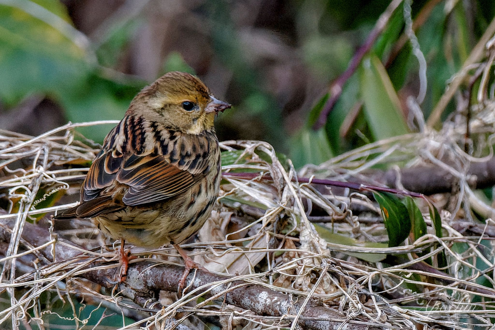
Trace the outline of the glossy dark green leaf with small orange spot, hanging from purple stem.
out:
M 374 191 L 373 196 L 375 196 L 382 211 L 385 228 L 389 234 L 389 246 L 398 246 L 409 236 L 411 231 L 409 212 L 394 194 Z

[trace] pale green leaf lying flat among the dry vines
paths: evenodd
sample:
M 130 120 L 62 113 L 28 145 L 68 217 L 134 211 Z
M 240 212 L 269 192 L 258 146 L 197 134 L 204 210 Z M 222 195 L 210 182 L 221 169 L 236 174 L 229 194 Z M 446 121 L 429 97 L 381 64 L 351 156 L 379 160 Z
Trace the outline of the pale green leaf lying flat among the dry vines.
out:
M 387 247 L 387 244 L 377 243 L 377 242 L 359 242 L 358 240 L 344 236 L 341 234 L 336 234 L 332 232 L 329 228 L 313 223 L 318 234 L 325 239 L 327 242 L 348 245 L 348 246 L 362 246 L 362 247 L 373 247 L 373 248 L 384 248 Z M 359 252 L 345 252 L 349 256 L 356 257 L 361 260 L 365 260 L 371 263 L 378 263 L 385 258 L 387 258 L 386 254 L 378 254 L 378 253 L 359 253 Z

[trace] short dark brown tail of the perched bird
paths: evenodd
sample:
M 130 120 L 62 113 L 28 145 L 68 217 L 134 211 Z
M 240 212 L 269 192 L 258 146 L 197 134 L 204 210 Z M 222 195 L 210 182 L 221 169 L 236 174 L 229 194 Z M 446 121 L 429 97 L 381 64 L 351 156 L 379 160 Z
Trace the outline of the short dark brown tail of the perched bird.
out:
M 97 197 L 77 206 L 58 213 L 54 219 L 95 218 L 111 212 L 124 209 L 125 206 L 116 204 L 111 197 Z

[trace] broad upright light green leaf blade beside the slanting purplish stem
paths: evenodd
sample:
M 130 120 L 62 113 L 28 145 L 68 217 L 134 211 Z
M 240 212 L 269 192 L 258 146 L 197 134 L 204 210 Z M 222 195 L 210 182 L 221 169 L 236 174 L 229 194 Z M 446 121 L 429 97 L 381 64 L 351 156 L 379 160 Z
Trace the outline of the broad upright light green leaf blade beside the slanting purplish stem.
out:
M 373 137 L 382 140 L 408 133 L 394 86 L 376 55 L 363 59 L 360 83 L 365 114 Z

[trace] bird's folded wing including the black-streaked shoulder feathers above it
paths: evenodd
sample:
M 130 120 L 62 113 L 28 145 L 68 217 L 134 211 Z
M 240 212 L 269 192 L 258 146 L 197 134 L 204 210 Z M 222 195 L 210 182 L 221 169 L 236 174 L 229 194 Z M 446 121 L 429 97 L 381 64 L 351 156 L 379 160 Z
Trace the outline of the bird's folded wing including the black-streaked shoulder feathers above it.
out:
M 128 186 L 122 202 L 130 206 L 170 198 L 194 185 L 209 172 L 208 154 L 210 147 L 213 147 L 212 137 L 184 137 L 175 132 L 167 134 L 161 134 L 158 138 L 155 134 L 153 143 L 156 148 L 153 153 L 139 154 L 136 149 L 142 151 L 143 148 L 135 148 L 136 141 L 133 139 L 136 136 L 133 134 L 127 134 L 124 152 L 116 153 L 114 145 L 109 146 L 106 152 L 103 149 L 83 183 L 82 201 L 111 194 L 111 189 L 105 188 L 111 187 L 114 182 Z

